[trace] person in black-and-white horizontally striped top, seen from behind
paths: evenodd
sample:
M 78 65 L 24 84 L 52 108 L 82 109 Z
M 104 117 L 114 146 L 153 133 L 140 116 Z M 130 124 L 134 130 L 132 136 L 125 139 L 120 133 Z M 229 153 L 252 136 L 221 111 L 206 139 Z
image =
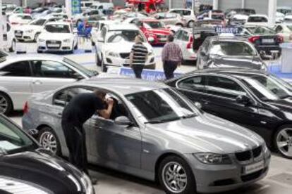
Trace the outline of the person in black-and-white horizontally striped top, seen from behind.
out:
M 142 71 L 144 69 L 148 49 L 143 45 L 142 37 L 140 35 L 135 37 L 135 44 L 132 47 L 132 51 L 130 53 L 130 67 L 133 68 L 136 78 L 141 78 Z

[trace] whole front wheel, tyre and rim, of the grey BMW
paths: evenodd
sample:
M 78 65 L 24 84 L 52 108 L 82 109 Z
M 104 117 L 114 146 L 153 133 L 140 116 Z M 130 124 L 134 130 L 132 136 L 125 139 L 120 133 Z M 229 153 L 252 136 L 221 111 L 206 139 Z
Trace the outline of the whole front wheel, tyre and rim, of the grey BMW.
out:
M 170 178 L 172 176 L 172 178 Z M 166 177 L 170 178 L 166 180 Z M 165 157 L 159 164 L 159 183 L 167 194 L 196 193 L 195 177 L 185 160 L 176 155 Z M 179 181 L 179 179 L 183 181 Z M 176 183 L 174 185 L 174 183 Z M 178 184 L 177 184 L 178 183 Z

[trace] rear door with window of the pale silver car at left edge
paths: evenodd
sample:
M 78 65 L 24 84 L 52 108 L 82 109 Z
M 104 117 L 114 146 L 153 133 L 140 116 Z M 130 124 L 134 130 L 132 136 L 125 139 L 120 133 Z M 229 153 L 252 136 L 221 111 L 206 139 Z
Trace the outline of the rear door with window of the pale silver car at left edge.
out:
M 7 92 L 14 109 L 21 109 L 32 95 L 32 70 L 27 60 L 5 65 L 0 69 L 0 89 Z

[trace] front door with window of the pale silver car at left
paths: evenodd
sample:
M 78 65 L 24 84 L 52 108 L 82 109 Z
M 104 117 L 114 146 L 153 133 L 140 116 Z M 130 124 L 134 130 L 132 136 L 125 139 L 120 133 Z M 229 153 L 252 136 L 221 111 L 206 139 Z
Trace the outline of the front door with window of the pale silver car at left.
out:
M 54 60 L 32 60 L 32 92 L 49 91 L 75 82 L 82 75 Z M 78 78 L 79 77 L 79 78 Z

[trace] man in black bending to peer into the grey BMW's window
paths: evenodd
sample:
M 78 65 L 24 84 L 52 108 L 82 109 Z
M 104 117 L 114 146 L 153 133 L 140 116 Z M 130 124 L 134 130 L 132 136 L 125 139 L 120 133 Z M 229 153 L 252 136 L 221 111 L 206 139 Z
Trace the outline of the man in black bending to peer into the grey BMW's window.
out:
M 62 128 L 69 150 L 69 161 L 75 167 L 88 174 L 85 130 L 83 124 L 98 112 L 104 119 L 109 119 L 113 109 L 113 99 L 105 99 L 104 91 L 80 93 L 72 98 L 63 110 Z M 107 108 L 106 105 L 107 104 Z

